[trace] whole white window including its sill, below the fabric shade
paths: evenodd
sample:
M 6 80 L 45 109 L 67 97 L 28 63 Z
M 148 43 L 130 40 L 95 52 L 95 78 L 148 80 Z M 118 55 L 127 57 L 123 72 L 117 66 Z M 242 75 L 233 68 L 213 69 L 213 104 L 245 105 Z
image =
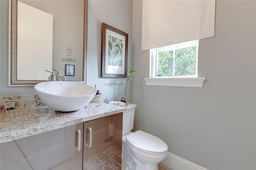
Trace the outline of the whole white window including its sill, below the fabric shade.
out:
M 198 77 L 198 40 L 150 49 L 150 78 L 146 85 L 202 87 Z

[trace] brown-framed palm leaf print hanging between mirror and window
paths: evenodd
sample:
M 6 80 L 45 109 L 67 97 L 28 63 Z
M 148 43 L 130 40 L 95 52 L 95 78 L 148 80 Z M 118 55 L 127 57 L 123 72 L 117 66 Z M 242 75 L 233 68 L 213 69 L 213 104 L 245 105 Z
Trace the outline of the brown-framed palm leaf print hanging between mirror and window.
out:
M 128 34 L 101 24 L 101 77 L 127 77 Z

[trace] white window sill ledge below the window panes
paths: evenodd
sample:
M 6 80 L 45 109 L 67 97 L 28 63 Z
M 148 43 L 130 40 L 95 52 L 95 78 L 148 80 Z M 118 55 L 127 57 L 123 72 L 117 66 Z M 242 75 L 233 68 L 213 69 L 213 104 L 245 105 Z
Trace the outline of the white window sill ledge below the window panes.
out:
M 203 87 L 205 77 L 154 77 L 144 78 L 146 85 L 172 87 Z

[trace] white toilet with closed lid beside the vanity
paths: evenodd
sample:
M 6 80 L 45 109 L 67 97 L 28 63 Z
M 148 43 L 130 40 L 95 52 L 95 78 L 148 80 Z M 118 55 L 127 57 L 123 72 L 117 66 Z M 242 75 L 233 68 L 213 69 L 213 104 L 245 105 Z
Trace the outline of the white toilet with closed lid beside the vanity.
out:
M 158 163 L 167 156 L 168 146 L 152 134 L 130 131 L 136 106 L 128 103 L 123 112 L 122 170 L 158 170 Z

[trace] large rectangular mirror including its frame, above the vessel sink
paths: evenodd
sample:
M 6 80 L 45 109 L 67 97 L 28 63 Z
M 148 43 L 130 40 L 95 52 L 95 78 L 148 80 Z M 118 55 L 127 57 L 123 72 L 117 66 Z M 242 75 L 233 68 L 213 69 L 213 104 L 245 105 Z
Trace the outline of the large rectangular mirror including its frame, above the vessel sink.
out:
M 43 43 L 34 43 L 30 39 L 36 37 L 34 35 L 40 35 L 40 33 L 34 33 L 33 30 L 40 30 L 44 27 L 40 25 L 34 28 L 30 24 L 24 24 L 24 21 L 20 22 L 19 19 L 22 18 L 20 13 L 25 16 L 30 13 L 24 12 L 23 9 L 20 10 L 18 6 L 20 2 L 52 15 L 52 52 L 50 51 L 52 67 L 48 66 L 47 70 L 52 71 L 54 68 L 60 71 L 67 81 L 86 83 L 88 0 L 9 0 L 9 86 L 33 86 L 47 81 L 51 74 L 44 71 L 46 67 L 43 67 L 45 63 L 50 63 L 49 59 L 48 61 L 45 59 L 46 56 L 50 56 L 49 50 L 43 47 L 51 46 L 51 43 L 49 41 L 45 43 L 44 40 Z M 32 20 L 31 17 L 28 20 Z M 24 30 L 19 31 L 22 26 L 24 30 L 28 30 L 27 35 L 24 34 Z M 25 41 L 22 42 L 20 37 L 25 37 Z M 37 44 L 37 47 L 34 47 L 34 44 Z M 35 49 L 41 51 L 35 51 Z M 48 51 L 48 54 L 45 54 L 45 51 Z M 40 73 L 36 69 L 39 69 Z M 38 75 L 36 77 L 43 75 L 43 78 L 31 78 L 32 74 Z

